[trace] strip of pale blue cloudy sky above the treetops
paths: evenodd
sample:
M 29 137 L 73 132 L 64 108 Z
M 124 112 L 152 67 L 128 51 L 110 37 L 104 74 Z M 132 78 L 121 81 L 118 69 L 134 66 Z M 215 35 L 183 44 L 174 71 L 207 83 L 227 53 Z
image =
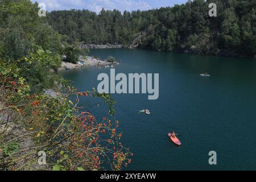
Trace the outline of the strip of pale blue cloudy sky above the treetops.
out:
M 173 6 L 182 4 L 188 0 L 31 0 L 38 3 L 45 3 L 47 11 L 88 9 L 97 13 L 104 7 L 106 10 L 118 9 L 128 10 L 148 10 L 158 7 Z

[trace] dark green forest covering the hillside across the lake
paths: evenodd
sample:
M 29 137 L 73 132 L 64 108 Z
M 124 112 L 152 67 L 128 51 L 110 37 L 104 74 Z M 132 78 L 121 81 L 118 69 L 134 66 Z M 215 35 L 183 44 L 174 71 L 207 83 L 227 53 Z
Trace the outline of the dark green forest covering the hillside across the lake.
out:
M 208 15 L 209 3 L 216 3 L 216 17 Z M 52 11 L 45 22 L 69 44 L 253 57 L 255 9 L 255 0 L 195 0 L 148 11 Z

